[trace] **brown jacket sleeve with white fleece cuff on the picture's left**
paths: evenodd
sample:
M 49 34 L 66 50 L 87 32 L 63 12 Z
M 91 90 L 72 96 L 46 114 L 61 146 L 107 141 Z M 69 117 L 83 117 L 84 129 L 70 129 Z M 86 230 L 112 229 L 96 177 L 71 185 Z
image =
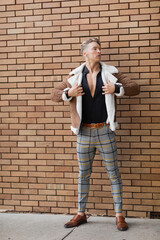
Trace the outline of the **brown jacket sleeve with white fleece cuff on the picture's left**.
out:
M 69 90 L 71 86 L 68 83 L 68 76 L 63 82 L 61 82 L 56 88 L 52 88 L 51 90 L 51 100 L 53 102 L 62 102 L 62 101 L 70 101 L 72 98 L 67 98 L 65 94 L 65 90 Z

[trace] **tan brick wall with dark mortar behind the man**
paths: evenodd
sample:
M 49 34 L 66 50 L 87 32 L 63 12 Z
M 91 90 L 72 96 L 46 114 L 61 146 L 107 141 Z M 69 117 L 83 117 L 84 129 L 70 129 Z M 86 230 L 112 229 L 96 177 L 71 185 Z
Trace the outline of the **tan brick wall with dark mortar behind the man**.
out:
M 0 0 L 0 209 L 73 214 L 76 136 L 68 103 L 51 88 L 83 62 L 80 43 L 99 37 L 102 60 L 141 86 L 118 99 L 117 145 L 127 216 L 160 211 L 159 1 Z M 113 215 L 97 154 L 87 211 Z

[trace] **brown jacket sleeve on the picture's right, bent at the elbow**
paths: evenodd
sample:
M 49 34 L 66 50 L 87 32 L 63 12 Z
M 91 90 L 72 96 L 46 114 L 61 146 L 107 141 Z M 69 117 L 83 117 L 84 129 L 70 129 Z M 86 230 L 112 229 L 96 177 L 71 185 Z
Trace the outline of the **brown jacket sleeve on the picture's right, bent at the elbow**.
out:
M 117 83 L 122 84 L 125 96 L 136 96 L 140 93 L 139 85 L 131 81 L 127 75 L 119 72 L 114 74 L 114 76 L 118 79 Z

